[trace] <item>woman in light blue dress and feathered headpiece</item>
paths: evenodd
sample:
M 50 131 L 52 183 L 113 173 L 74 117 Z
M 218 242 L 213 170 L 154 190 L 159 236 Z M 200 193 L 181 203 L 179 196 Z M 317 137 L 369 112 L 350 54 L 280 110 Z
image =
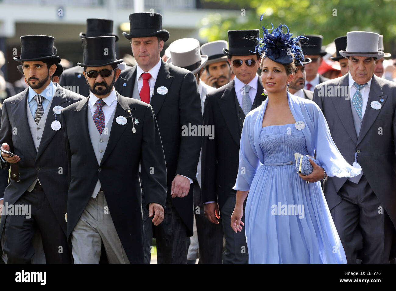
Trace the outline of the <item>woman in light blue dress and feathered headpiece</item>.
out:
M 361 169 L 341 156 L 318 106 L 287 92 L 295 62 L 303 59 L 300 37 L 291 38 L 282 26 L 272 34 L 263 30 L 256 50 L 263 55 L 268 97 L 244 121 L 231 227 L 245 227 L 249 263 L 346 263 L 319 181 L 354 177 Z M 310 160 L 312 173 L 298 174 L 294 154 L 313 156 L 315 150 L 323 167 Z

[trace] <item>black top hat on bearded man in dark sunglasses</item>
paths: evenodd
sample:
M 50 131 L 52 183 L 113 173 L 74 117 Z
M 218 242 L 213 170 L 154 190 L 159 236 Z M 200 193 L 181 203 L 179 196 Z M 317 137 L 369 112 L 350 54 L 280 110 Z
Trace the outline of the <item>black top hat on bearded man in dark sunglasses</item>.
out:
M 82 38 L 84 61 L 77 63 L 81 67 L 102 67 L 118 65 L 123 60 L 116 58 L 115 36 L 97 36 Z

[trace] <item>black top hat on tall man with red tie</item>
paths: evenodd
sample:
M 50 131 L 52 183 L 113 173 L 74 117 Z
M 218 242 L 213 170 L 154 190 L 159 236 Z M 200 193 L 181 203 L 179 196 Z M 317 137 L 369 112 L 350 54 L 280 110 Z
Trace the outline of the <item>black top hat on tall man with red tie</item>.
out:
M 131 40 L 134 37 L 158 36 L 166 42 L 169 32 L 162 29 L 162 15 L 160 13 L 139 12 L 129 14 L 129 34 L 122 35 Z

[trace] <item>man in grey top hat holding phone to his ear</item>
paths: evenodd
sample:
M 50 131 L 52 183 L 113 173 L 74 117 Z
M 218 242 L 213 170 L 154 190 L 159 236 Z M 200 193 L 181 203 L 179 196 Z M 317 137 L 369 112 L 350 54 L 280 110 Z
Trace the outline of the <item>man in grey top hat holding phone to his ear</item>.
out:
M 230 82 L 231 68 L 223 49 L 228 49 L 225 40 L 215 40 L 201 46 L 201 52 L 208 55 L 202 80 L 211 87 L 220 88 Z

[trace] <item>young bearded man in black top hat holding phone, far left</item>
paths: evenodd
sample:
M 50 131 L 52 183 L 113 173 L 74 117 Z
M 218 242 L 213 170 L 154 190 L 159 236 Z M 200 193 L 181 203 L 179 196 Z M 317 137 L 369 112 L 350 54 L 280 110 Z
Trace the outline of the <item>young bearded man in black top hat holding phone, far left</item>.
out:
M 3 104 L 1 166 L 11 167 L 4 204 L 31 206 L 30 215 L 11 213 L 0 222 L 8 263 L 27 264 L 34 255 L 32 238 L 39 229 L 47 263 L 70 263 L 66 238 L 67 159 L 60 110 L 83 96 L 51 82 L 61 58 L 52 36 L 21 36 L 21 56 L 29 88 Z

